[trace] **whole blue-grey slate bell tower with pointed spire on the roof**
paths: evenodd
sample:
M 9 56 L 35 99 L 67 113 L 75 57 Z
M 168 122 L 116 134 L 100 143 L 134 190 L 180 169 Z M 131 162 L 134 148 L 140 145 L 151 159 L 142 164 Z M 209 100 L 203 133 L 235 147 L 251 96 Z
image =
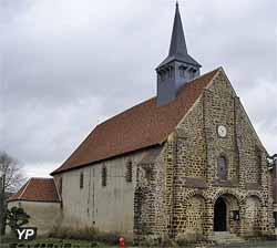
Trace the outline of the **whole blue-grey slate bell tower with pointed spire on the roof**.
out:
M 199 75 L 199 69 L 201 64 L 187 53 L 179 8 L 176 3 L 170 52 L 156 68 L 157 105 L 175 100 L 178 90 Z

